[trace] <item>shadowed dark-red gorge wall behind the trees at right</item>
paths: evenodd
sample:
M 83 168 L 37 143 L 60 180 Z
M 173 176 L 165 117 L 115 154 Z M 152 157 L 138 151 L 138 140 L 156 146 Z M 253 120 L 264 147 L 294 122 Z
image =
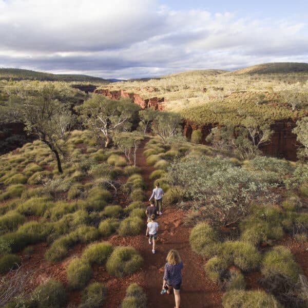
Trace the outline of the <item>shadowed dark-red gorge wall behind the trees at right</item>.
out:
M 205 139 L 210 133 L 210 130 L 215 126 L 218 126 L 218 124 L 198 125 L 184 121 L 184 136 L 190 139 L 192 131 L 200 130 L 202 133 L 202 143 L 206 144 Z M 272 134 L 271 141 L 262 144 L 260 147 L 264 155 L 296 161 L 296 151 L 299 144 L 296 141 L 296 134 L 292 133 L 292 129 L 295 126 L 296 124 L 293 121 L 273 123 L 271 129 L 274 133 Z

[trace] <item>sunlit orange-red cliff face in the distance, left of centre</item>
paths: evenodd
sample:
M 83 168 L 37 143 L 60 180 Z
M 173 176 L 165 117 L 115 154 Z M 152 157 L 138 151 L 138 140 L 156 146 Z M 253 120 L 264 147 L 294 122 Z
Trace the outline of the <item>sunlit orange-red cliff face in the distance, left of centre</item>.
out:
M 153 107 L 155 110 L 162 110 L 162 104 L 165 99 L 153 97 L 150 99 L 142 99 L 139 94 L 127 93 L 124 90 L 108 90 L 97 89 L 94 93 L 103 94 L 113 100 L 119 100 L 121 98 L 130 98 L 135 104 L 138 104 L 142 109 Z

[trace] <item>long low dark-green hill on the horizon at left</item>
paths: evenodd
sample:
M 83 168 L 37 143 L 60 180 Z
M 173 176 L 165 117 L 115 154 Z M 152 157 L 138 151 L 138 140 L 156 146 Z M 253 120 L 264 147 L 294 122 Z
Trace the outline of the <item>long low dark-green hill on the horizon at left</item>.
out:
M 39 80 L 39 81 L 65 81 L 65 82 L 96 82 L 109 83 L 110 81 L 79 74 L 51 74 L 44 72 L 36 72 L 19 68 L 0 68 L 0 80 Z

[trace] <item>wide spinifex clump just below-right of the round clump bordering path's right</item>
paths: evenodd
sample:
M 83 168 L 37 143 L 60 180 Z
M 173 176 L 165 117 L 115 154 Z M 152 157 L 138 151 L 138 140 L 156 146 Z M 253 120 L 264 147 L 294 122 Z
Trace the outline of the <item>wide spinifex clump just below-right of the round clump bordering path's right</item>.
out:
M 220 253 L 244 272 L 252 271 L 261 262 L 261 255 L 252 244 L 242 241 L 226 241 L 222 243 Z

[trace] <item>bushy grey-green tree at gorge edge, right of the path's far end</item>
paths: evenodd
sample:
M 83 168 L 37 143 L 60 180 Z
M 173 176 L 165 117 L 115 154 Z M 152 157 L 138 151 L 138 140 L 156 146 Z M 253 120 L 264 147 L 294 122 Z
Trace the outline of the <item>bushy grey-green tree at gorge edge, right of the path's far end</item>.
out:
M 152 129 L 165 143 L 169 137 L 175 136 L 181 131 L 180 123 L 180 114 L 162 111 L 152 122 Z

